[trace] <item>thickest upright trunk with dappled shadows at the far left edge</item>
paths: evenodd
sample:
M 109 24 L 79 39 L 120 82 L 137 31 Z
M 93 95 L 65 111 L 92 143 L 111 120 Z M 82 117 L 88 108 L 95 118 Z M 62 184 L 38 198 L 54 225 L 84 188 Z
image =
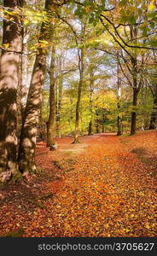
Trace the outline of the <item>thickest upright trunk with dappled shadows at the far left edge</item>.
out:
M 22 8 L 22 0 L 3 0 L 10 11 Z M 14 20 L 9 21 L 9 18 Z M 19 84 L 19 62 L 22 44 L 22 26 L 18 15 L 3 20 L 3 49 L 0 67 L 0 182 L 8 181 L 17 173 L 17 90 Z

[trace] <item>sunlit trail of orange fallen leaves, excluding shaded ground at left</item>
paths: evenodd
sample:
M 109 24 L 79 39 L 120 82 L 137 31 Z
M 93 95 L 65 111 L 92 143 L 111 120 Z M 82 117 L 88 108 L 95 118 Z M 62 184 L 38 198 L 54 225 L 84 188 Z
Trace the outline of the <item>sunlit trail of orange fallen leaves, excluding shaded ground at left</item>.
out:
M 113 134 L 72 141 L 59 139 L 55 152 L 38 144 L 38 165 L 58 178 L 42 183 L 54 196 L 30 213 L 25 236 L 156 236 L 148 166 Z

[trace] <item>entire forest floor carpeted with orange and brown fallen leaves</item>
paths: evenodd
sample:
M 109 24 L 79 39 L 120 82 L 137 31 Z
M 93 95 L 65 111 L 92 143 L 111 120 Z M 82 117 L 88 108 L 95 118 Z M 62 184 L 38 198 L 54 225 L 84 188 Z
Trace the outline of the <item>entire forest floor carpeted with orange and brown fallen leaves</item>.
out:
M 1 236 L 157 235 L 157 131 L 57 141 L 38 143 L 38 174 L 0 189 Z

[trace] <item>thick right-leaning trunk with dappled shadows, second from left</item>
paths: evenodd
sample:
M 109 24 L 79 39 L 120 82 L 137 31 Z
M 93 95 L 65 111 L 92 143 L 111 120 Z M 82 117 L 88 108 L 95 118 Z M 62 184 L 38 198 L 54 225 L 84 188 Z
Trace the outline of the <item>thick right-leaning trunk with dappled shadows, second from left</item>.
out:
M 45 9 L 48 10 L 50 0 L 46 0 Z M 39 41 L 46 39 L 46 24 L 43 22 Z M 20 172 L 35 172 L 35 148 L 38 132 L 38 118 L 42 101 L 42 89 L 46 69 L 46 51 L 38 48 L 38 54 L 32 71 L 32 80 L 27 96 L 26 109 L 23 118 L 23 124 L 20 134 L 19 147 L 19 168 Z

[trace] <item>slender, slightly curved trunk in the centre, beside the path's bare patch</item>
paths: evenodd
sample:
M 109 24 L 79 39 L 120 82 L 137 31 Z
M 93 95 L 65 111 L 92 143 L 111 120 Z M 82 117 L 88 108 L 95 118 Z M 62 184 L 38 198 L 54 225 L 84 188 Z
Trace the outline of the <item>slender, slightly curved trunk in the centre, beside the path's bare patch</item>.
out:
M 79 143 L 79 108 L 81 102 L 83 76 L 84 76 L 84 49 L 80 49 L 81 53 L 79 57 L 79 84 L 78 84 L 78 100 L 76 104 L 76 119 L 75 119 L 75 135 L 73 143 Z

